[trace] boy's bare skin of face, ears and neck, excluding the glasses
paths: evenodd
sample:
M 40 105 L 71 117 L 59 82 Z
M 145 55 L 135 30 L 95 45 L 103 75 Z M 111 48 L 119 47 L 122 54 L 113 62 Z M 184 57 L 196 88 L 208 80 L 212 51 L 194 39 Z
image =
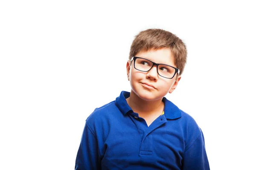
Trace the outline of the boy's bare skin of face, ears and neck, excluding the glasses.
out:
M 174 55 L 169 48 L 140 51 L 135 56 L 177 67 Z M 148 72 L 138 71 L 134 68 L 134 61 L 129 60 L 126 64 L 126 70 L 131 85 L 131 94 L 126 101 L 134 112 L 145 119 L 149 126 L 163 113 L 164 103 L 162 99 L 167 93 L 172 93 L 175 90 L 181 76 L 176 74 L 172 79 L 161 77 L 157 74 L 156 65 Z M 153 85 L 154 88 L 148 87 L 144 83 Z

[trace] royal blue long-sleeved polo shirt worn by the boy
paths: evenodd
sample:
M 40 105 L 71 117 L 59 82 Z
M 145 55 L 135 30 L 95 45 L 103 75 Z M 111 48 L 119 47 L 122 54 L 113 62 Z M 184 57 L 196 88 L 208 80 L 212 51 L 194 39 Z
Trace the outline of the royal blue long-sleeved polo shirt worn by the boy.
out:
M 163 98 L 164 114 L 150 126 L 122 91 L 87 118 L 76 170 L 209 170 L 204 136 L 195 120 Z

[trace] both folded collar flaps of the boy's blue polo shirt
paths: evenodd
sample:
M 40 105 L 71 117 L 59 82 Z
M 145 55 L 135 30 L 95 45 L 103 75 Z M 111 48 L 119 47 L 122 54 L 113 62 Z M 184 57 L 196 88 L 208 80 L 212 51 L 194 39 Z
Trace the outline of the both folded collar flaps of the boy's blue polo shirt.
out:
M 125 115 L 128 112 L 133 112 L 131 107 L 128 105 L 126 98 L 130 96 L 130 92 L 122 91 L 120 96 L 116 97 L 116 106 Z M 173 104 L 171 101 L 163 97 L 164 102 L 164 115 L 166 119 L 178 119 L 181 117 L 180 109 Z

